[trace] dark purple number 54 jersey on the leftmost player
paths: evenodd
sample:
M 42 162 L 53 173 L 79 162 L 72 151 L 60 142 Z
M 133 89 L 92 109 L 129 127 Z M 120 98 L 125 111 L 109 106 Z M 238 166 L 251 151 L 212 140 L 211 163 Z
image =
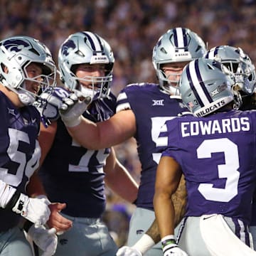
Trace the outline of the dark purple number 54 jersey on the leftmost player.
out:
M 37 141 L 40 115 L 33 106 L 16 108 L 3 92 L 0 92 L 0 112 L 0 179 L 25 193 L 41 156 Z M 16 226 L 21 215 L 1 208 L 0 218 L 1 232 Z

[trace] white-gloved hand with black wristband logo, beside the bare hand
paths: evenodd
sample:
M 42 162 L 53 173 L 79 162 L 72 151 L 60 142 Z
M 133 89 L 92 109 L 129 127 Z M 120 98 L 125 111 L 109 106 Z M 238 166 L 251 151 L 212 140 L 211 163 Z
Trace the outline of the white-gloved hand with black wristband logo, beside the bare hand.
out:
M 29 198 L 23 193 L 18 195 L 12 210 L 36 225 L 45 224 L 50 216 L 50 208 L 45 198 Z

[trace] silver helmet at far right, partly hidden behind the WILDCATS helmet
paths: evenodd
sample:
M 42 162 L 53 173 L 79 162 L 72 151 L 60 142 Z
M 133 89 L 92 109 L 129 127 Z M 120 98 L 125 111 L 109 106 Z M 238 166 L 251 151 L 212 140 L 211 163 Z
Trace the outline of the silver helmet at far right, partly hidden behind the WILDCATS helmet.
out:
M 218 60 L 233 73 L 235 84 L 246 95 L 252 95 L 256 85 L 255 65 L 241 48 L 217 46 L 208 50 L 205 58 Z

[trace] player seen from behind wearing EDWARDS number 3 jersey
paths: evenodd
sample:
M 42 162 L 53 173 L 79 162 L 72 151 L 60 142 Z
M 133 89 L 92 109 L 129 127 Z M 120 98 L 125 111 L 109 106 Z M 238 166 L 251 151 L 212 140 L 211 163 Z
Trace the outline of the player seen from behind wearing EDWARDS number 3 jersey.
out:
M 206 58 L 186 65 L 179 89 L 195 117 L 161 128 L 168 146 L 156 171 L 154 209 L 164 255 L 255 255 L 248 225 L 256 163 L 247 152 L 255 151 L 256 112 L 237 110 L 228 72 Z M 170 199 L 181 174 L 188 198 L 177 245 Z

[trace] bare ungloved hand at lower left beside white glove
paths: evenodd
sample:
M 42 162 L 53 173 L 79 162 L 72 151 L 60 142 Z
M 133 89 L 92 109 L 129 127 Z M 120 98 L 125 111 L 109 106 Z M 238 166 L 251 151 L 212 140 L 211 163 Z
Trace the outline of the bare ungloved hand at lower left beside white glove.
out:
M 69 230 L 73 225 L 71 220 L 68 220 L 67 218 L 64 218 L 62 215 L 60 215 L 60 211 L 65 207 L 65 203 L 51 203 L 49 205 L 50 218 L 47 222 L 47 225 L 50 228 L 55 228 L 57 235 Z

